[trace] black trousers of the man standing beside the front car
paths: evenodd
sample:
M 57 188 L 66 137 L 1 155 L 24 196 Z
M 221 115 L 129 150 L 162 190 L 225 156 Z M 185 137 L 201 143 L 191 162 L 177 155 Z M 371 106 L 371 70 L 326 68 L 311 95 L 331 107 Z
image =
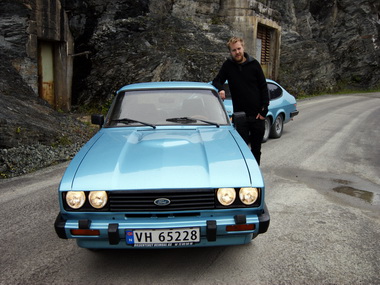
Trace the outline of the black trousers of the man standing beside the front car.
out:
M 255 117 L 247 117 L 245 123 L 236 126 L 236 130 L 246 144 L 251 145 L 253 156 L 257 164 L 260 165 L 261 142 L 265 132 L 265 121 L 256 119 Z

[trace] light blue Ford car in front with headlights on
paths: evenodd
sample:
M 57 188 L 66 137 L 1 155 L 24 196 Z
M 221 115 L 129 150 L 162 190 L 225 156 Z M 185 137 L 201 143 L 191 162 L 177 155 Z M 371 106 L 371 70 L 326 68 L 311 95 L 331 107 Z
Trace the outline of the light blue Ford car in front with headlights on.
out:
M 59 185 L 60 238 L 90 249 L 203 247 L 267 231 L 260 168 L 212 85 L 127 85 L 92 122 L 99 131 Z

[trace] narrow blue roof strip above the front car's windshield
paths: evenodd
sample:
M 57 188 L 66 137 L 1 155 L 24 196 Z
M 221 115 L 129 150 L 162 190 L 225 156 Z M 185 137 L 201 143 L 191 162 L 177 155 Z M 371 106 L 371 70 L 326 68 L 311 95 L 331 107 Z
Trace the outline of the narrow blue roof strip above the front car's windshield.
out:
M 120 88 L 117 92 L 143 89 L 215 89 L 215 87 L 203 82 L 161 81 L 129 84 Z

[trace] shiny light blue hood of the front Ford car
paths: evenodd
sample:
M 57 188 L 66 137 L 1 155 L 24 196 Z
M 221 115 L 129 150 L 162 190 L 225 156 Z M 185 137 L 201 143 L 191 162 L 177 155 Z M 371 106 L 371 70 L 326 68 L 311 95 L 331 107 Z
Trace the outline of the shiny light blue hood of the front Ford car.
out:
M 70 163 L 60 189 L 263 187 L 259 167 L 236 134 L 223 128 L 103 129 Z

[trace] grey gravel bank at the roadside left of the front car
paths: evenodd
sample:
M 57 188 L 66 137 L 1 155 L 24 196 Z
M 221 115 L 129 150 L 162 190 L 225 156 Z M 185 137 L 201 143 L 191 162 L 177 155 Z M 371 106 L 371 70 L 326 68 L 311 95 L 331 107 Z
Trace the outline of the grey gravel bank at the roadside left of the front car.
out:
M 40 114 L 37 114 L 40 115 Z M 40 128 L 39 137 L 48 137 L 52 129 L 57 132 L 54 139 L 20 139 L 14 147 L 0 148 L 0 179 L 12 178 L 36 170 L 71 160 L 81 147 L 98 131 L 90 125 L 89 116 L 78 114 L 50 114 L 52 119 L 45 120 L 45 129 Z M 36 122 L 35 118 L 32 118 Z M 11 139 L 17 138 L 14 134 Z M 34 141 L 35 140 L 35 141 Z M 42 141 L 42 142 L 41 142 Z

